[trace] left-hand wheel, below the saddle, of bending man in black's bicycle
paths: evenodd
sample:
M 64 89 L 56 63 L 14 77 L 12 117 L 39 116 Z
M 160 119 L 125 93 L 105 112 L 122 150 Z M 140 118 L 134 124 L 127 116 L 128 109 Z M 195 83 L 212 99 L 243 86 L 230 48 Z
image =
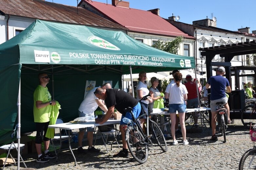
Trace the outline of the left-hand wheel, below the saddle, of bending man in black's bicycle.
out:
M 139 163 L 145 163 L 148 159 L 148 147 L 144 136 L 140 131 L 133 130 L 129 126 L 126 130 L 127 145 L 132 157 Z

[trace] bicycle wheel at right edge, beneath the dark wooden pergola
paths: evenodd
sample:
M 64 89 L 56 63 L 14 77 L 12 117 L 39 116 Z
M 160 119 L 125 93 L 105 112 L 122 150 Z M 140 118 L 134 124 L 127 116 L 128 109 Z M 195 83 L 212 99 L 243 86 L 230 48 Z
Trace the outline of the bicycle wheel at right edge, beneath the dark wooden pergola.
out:
M 246 106 L 241 115 L 241 121 L 244 124 L 245 127 L 250 129 L 251 123 L 252 125 L 256 124 L 256 114 L 253 113 L 253 107 L 254 105 L 248 105 Z

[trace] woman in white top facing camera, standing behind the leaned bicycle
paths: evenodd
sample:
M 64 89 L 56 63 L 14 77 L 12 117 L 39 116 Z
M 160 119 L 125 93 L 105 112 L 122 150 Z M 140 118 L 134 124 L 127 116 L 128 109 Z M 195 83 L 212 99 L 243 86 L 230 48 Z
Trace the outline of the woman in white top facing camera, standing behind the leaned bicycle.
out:
M 137 91 L 137 96 L 136 99 L 137 100 L 141 100 L 144 96 L 149 94 L 149 90 L 148 87 L 146 85 L 146 83 L 144 83 L 147 80 L 147 73 L 145 71 L 141 71 L 139 73 L 139 78 L 138 78 L 138 85 L 136 87 L 136 91 Z M 148 103 L 152 102 L 152 98 L 148 97 L 147 100 L 143 100 L 141 107 L 143 107 L 143 109 L 145 110 L 145 112 L 148 114 Z M 142 117 L 140 119 L 141 124 L 144 123 L 146 116 Z

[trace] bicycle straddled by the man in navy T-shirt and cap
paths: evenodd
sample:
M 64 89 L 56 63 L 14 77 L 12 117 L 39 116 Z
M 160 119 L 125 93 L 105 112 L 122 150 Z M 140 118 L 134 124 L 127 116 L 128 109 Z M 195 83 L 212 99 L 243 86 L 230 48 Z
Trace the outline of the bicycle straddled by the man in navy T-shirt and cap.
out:
M 219 131 L 221 131 L 221 134 L 224 137 L 224 143 L 226 143 L 226 128 L 227 128 L 227 109 L 224 108 L 223 104 L 225 102 L 221 101 L 221 102 L 217 102 L 216 104 L 218 104 L 218 109 L 216 109 L 216 114 L 217 114 L 217 122 L 219 125 Z

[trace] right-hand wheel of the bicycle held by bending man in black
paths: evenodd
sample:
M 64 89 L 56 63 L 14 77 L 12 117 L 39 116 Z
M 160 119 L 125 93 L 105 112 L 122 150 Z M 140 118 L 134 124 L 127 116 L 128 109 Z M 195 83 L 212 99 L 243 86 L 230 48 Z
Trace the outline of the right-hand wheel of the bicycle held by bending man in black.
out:
M 164 152 L 166 152 L 168 150 L 168 147 L 163 132 L 161 131 L 156 122 L 151 121 L 150 125 L 158 146 L 161 147 Z

